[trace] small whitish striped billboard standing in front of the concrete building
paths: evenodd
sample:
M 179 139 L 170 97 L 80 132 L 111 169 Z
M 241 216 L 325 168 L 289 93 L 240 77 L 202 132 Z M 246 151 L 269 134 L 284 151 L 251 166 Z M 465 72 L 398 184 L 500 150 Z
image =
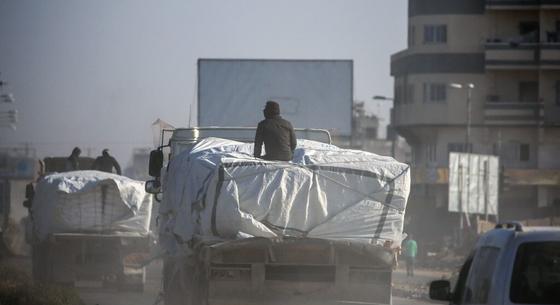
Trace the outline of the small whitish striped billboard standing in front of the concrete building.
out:
M 449 154 L 449 211 L 498 214 L 499 158 Z

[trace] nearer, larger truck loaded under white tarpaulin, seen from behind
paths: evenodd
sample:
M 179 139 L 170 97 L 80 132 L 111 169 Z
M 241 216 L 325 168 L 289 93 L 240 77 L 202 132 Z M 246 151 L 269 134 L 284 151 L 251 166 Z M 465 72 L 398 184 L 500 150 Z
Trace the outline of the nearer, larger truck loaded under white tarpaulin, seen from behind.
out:
M 409 167 L 297 128 L 294 160 L 264 161 L 254 133 L 164 130 L 151 152 L 165 304 L 391 304 Z

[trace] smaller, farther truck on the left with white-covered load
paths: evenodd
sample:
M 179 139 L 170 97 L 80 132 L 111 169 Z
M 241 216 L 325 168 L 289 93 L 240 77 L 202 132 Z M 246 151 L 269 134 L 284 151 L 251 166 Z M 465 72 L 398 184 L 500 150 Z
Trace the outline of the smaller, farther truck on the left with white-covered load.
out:
M 57 172 L 61 160 L 45 159 L 53 172 L 27 194 L 34 280 L 142 291 L 143 262 L 152 240 L 152 196 L 145 193 L 143 182 L 124 176 Z

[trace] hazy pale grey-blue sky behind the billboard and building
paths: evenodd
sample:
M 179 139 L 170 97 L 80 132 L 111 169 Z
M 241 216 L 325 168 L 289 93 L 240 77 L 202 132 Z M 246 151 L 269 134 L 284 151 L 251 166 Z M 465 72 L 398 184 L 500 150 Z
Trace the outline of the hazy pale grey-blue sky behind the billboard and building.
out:
M 0 78 L 16 98 L 0 111 L 19 111 L 0 144 L 108 147 L 126 166 L 157 118 L 187 126 L 198 58 L 352 59 L 355 99 L 391 96 L 406 16 L 406 0 L 0 0 Z

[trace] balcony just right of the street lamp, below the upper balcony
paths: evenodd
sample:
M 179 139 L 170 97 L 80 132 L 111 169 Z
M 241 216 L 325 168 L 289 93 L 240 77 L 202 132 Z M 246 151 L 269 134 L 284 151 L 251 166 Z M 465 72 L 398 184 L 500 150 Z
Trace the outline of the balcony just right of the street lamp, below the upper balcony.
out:
M 484 123 L 488 125 L 536 125 L 543 118 L 542 103 L 487 101 L 484 105 Z

